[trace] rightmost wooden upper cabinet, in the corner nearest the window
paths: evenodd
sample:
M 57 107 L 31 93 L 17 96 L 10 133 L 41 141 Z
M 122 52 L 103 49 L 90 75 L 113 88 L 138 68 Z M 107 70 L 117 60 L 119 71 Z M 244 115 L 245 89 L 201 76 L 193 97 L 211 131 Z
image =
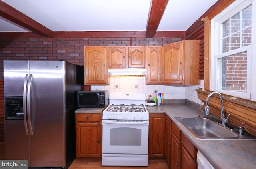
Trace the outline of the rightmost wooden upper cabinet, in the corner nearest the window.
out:
M 162 46 L 162 84 L 198 85 L 199 40 Z

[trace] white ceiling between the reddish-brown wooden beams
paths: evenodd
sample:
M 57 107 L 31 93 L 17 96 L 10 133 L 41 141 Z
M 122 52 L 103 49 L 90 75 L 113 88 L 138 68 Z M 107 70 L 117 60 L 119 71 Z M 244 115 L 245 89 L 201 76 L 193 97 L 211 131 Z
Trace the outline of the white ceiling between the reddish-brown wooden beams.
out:
M 145 31 L 151 0 L 2 0 L 52 31 Z M 217 0 L 169 0 L 157 31 L 186 31 Z M 0 32 L 29 31 L 0 17 Z

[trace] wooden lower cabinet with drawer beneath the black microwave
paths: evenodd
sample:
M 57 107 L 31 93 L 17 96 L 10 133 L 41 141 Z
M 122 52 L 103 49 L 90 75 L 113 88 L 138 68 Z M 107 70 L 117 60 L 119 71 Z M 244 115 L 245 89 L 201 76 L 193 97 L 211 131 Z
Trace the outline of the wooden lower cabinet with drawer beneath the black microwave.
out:
M 76 157 L 101 157 L 101 113 L 76 114 Z

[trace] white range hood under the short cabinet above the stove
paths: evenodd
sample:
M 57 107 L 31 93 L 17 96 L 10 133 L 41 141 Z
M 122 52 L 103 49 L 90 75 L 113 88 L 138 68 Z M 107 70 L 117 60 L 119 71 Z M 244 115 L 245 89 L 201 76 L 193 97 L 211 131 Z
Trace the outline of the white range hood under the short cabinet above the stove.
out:
M 108 69 L 108 76 L 146 76 L 146 69 Z

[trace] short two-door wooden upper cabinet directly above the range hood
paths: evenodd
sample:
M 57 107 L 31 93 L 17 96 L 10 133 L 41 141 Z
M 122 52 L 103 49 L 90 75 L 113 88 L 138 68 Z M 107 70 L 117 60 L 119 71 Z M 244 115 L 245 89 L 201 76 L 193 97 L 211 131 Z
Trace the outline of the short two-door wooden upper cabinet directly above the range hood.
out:
M 145 46 L 109 46 L 108 68 L 145 68 Z

